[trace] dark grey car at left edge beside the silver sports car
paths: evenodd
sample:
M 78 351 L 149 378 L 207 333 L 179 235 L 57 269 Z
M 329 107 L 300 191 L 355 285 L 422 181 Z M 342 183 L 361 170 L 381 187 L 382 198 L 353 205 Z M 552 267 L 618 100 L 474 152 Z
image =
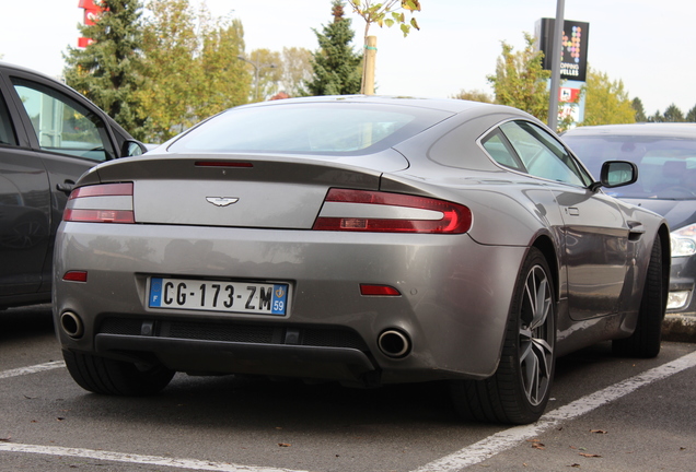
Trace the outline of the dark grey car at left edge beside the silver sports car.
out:
M 72 88 L 0 62 L 0 309 L 50 300 L 54 238 L 74 182 L 143 151 Z

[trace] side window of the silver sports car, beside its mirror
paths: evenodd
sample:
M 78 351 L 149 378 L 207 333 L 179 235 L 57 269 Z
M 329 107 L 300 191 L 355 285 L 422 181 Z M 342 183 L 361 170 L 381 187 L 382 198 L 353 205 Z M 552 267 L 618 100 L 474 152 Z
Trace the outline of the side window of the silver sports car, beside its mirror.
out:
M 500 126 L 527 174 L 548 180 L 587 187 L 592 179 L 550 134 L 526 121 Z

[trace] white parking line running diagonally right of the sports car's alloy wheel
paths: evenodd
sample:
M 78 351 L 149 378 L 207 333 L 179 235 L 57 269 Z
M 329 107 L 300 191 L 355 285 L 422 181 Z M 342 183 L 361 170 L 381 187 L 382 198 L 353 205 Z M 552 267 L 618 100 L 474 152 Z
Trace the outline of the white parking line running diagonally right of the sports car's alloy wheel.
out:
M 480 463 L 497 453 L 512 449 L 526 439 L 532 439 L 550 428 L 557 427 L 565 421 L 589 413 L 603 404 L 627 396 L 640 387 L 694 366 L 696 366 L 696 352 L 582 397 L 565 406 L 546 413 L 538 422 L 532 425 L 517 426 L 496 433 L 450 456 L 418 468 L 414 472 L 454 472 Z

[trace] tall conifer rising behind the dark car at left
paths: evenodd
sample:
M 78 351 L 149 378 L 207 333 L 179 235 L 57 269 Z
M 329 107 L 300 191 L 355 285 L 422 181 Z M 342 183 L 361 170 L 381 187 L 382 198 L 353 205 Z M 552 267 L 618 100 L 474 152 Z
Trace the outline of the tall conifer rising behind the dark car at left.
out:
M 96 3 L 96 2 L 95 2 Z M 142 86 L 139 0 L 101 0 L 94 25 L 78 26 L 92 43 L 68 47 L 66 82 L 104 109 L 135 138 L 144 137 L 137 91 Z

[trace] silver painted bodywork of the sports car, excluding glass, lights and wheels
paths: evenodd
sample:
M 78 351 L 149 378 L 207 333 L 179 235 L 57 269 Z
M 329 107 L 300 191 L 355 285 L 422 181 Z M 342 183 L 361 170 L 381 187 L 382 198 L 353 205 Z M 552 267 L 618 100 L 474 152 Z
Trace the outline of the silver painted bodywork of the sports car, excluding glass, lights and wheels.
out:
M 358 156 L 359 165 L 303 155 L 177 155 L 161 146 L 96 167 L 79 186 L 132 181 L 136 224 L 61 224 L 55 314 L 80 314 L 84 321 L 79 339 L 58 330 L 62 347 L 131 361 L 152 353 L 193 373 L 368 385 L 486 378 L 497 368 L 512 293 L 533 245 L 554 270 L 558 354 L 629 335 L 664 221 L 601 192 L 498 166 L 477 139 L 512 118 L 537 122 L 529 115 L 446 107 L 461 109 L 393 149 Z M 200 165 L 208 161 L 251 166 Z M 313 231 L 318 215 L 352 211 L 325 204 L 329 188 L 461 203 L 473 214 L 472 227 L 466 234 Z M 210 197 L 239 200 L 218 206 Z M 397 216 L 393 209 L 374 211 Z M 62 280 L 73 270 L 85 271 L 86 283 Z M 270 317 L 153 308 L 152 276 L 286 283 L 289 309 Z M 394 287 L 398 296 L 367 296 L 361 284 Z M 223 334 L 236 329 L 248 337 Z M 387 329 L 408 333 L 408 356 L 380 351 L 376 340 Z M 264 330 L 268 340 L 255 341 Z

